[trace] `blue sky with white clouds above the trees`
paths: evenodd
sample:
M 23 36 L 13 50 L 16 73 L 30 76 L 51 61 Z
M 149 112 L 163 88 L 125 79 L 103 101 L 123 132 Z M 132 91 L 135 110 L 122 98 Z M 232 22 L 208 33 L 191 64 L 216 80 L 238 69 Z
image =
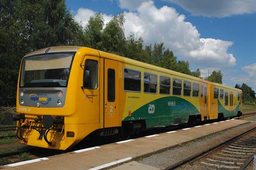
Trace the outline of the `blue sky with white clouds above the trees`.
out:
M 86 26 L 103 13 L 105 24 L 123 14 L 125 36 L 144 45 L 164 43 L 204 78 L 213 70 L 222 82 L 256 91 L 256 0 L 66 0 L 74 19 Z

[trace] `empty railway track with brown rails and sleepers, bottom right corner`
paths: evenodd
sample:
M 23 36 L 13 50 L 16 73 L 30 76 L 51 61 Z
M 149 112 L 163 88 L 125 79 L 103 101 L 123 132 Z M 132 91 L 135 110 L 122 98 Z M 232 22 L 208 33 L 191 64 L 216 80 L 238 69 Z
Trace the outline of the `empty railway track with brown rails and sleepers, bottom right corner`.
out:
M 171 165 L 166 170 L 243 170 L 256 155 L 256 127 L 208 150 Z

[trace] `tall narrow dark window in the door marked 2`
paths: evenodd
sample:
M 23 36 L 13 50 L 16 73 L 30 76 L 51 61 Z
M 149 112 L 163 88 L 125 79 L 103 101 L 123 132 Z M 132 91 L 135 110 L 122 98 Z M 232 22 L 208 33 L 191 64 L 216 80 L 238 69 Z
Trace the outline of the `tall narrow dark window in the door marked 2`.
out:
M 114 102 L 116 100 L 116 87 L 115 87 L 115 70 L 107 70 L 107 100 Z

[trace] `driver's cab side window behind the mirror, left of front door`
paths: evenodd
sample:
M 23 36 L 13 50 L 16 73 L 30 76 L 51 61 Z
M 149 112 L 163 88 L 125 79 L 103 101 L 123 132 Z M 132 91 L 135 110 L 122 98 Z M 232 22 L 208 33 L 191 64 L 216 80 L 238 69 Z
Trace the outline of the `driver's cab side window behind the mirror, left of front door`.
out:
M 96 60 L 85 60 L 83 86 L 85 89 L 98 88 L 98 62 Z

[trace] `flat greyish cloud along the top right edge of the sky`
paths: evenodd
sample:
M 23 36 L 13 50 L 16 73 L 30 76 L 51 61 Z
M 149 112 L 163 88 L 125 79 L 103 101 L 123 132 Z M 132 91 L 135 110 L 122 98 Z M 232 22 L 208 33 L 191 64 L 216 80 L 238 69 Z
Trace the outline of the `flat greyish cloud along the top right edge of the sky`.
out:
M 256 12 L 256 0 L 165 0 L 180 5 L 192 15 L 227 17 Z

